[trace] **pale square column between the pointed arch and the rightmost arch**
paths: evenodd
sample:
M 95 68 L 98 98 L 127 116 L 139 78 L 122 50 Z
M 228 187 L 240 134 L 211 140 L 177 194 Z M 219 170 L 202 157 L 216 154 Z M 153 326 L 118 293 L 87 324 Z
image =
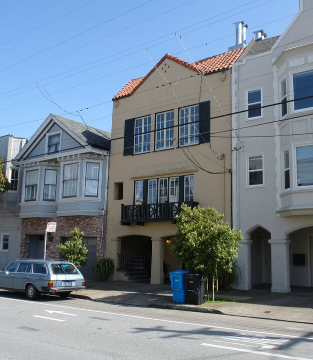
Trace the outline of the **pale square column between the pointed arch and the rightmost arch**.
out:
M 271 244 L 273 292 L 290 291 L 289 239 L 269 239 Z

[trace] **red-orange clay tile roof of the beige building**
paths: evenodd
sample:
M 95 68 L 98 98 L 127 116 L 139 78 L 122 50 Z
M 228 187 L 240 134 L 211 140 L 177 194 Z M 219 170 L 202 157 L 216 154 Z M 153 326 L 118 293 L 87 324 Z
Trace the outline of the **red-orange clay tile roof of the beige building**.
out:
M 156 70 L 156 68 L 165 60 L 169 59 L 174 62 L 179 63 L 182 66 L 189 68 L 192 71 L 202 74 L 209 74 L 211 72 L 223 70 L 230 68 L 233 63 L 238 59 L 241 53 L 244 51 L 243 48 L 227 51 L 221 53 L 219 55 L 215 55 L 212 57 L 207 57 L 202 60 L 198 60 L 195 62 L 188 62 L 180 59 L 179 57 L 173 56 L 171 54 L 165 54 L 161 60 L 147 73 L 146 76 L 138 77 L 136 79 L 130 80 L 113 98 L 112 100 L 117 100 L 122 97 L 132 95 L 139 86 L 141 86 L 144 81 Z

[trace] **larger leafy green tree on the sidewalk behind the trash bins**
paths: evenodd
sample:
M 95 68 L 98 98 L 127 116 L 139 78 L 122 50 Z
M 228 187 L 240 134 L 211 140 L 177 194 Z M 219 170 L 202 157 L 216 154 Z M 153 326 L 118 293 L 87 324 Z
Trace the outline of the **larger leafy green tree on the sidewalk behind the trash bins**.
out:
M 217 270 L 234 270 L 234 260 L 242 239 L 241 231 L 232 229 L 222 220 L 223 214 L 213 207 L 181 205 L 176 215 L 178 230 L 170 247 L 188 270 L 205 274 L 212 281 L 212 300 Z

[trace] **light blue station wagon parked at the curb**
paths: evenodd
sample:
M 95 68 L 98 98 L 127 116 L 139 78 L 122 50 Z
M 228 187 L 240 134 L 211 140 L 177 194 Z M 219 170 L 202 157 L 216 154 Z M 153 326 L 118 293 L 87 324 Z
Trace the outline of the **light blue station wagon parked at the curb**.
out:
M 71 262 L 53 259 L 17 259 L 0 270 L 0 288 L 22 291 L 33 300 L 43 294 L 67 297 L 84 290 L 85 280 Z

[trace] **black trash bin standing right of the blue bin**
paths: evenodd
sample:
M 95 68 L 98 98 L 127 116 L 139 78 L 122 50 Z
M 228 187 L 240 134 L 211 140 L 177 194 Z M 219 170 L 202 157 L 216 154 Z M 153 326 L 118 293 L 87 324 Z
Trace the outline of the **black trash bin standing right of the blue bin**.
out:
M 207 281 L 199 272 L 184 273 L 186 300 L 193 305 L 201 305 L 207 300 Z

